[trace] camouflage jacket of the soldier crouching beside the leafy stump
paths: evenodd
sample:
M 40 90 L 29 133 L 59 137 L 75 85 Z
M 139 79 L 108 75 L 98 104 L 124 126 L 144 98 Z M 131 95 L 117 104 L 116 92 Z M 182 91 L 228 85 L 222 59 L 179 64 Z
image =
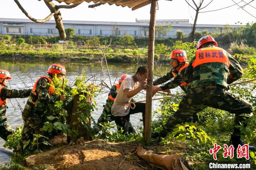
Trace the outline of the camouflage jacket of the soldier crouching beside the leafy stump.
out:
M 29 124 L 33 128 L 41 128 L 46 121 L 46 116 L 50 115 L 50 107 L 54 107 L 54 103 L 60 100 L 60 96 L 50 95 L 48 93 L 49 85 L 46 78 L 41 78 L 37 83 L 37 97 L 34 107 L 29 109 L 28 105 L 22 112 L 22 118 L 25 123 Z

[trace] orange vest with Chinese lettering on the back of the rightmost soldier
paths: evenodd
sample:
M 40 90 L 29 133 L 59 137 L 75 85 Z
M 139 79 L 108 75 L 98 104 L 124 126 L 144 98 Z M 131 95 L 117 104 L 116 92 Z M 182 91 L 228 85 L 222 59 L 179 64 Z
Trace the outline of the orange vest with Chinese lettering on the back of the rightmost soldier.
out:
M 192 63 L 193 76 L 189 86 L 218 84 L 227 88 L 228 68 L 230 66 L 227 52 L 219 47 L 205 47 L 196 50 L 196 58 Z

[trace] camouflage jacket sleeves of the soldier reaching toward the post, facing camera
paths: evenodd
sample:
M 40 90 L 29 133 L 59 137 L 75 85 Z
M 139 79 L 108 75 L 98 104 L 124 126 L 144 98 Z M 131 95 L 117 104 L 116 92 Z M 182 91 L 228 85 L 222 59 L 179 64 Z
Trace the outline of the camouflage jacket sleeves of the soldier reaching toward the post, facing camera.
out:
M 157 80 L 155 80 L 153 82 L 153 85 L 159 85 L 162 83 L 165 83 L 166 81 L 169 81 L 170 79 L 174 78 L 172 81 L 166 83 L 165 85 L 161 86 L 162 90 L 166 90 L 166 89 L 174 89 L 177 86 L 179 86 L 180 84 L 182 84 L 184 82 L 184 73 L 185 73 L 185 69 L 183 69 L 180 74 L 178 74 L 176 77 L 173 76 L 172 74 L 172 70 L 170 72 L 168 72 L 165 76 L 158 78 Z M 180 86 L 181 89 L 186 92 L 187 89 L 187 85 L 185 86 Z

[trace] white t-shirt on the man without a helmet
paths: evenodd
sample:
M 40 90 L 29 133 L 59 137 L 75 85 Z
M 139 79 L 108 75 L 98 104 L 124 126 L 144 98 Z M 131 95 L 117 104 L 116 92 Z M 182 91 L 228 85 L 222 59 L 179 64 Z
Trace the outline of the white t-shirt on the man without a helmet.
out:
M 135 84 L 132 76 L 128 76 L 122 82 L 114 104 L 112 105 L 111 112 L 113 116 L 126 116 L 129 113 L 130 107 L 128 102 L 131 101 L 132 97 L 127 98 L 124 89 L 134 90 L 138 87 L 138 83 Z

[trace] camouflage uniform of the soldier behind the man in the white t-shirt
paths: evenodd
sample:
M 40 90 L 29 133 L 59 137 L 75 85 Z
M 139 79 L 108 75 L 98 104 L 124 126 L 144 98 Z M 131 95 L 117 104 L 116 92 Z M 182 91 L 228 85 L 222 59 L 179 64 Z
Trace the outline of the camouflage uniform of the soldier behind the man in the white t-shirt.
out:
M 116 86 L 113 85 L 110 89 L 109 95 L 111 95 L 113 98 L 116 98 L 117 93 L 118 93 L 118 90 L 117 90 Z M 103 105 L 104 109 L 102 111 L 101 116 L 99 116 L 97 124 L 99 124 L 99 123 L 103 124 L 104 122 L 107 122 L 107 121 L 111 122 L 114 120 L 114 116 L 111 113 L 111 107 L 113 104 L 114 104 L 114 101 L 111 100 L 110 98 L 108 98 L 106 100 L 106 104 Z M 135 132 L 134 128 L 132 127 L 131 122 L 129 122 L 129 132 L 131 132 L 131 133 Z

